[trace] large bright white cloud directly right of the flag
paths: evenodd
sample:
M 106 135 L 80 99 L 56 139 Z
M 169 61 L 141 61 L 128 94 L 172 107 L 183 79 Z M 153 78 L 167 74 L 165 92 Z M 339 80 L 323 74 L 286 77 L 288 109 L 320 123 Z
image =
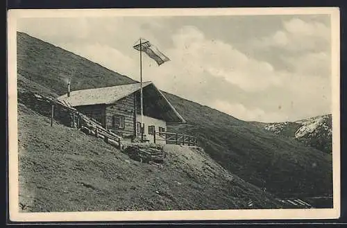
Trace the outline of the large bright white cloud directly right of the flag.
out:
M 203 75 L 208 75 L 216 80 L 222 78 L 246 91 L 262 91 L 281 83 L 269 62 L 249 58 L 220 40 L 208 40 L 192 26 L 181 28 L 172 39 L 174 48 L 164 50 L 171 62 L 153 68 L 156 80 L 180 76 L 181 83 L 196 85 Z

